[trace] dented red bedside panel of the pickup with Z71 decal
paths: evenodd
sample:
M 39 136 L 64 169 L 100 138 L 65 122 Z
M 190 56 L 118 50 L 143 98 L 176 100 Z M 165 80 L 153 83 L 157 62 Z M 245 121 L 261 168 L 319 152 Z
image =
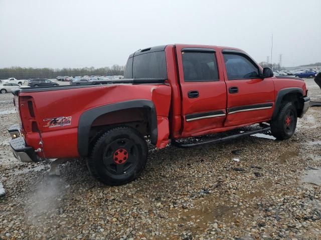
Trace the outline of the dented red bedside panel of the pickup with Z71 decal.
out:
M 158 140 L 161 145 L 169 135 L 168 114 L 171 88 L 165 84 L 112 84 L 93 87 L 49 91 L 20 92 L 20 113 L 25 139 L 35 149 L 41 147 L 38 132 L 32 132 L 32 121 L 37 122 L 46 157 L 77 157 L 77 128 L 80 115 L 91 108 L 132 99 L 153 101 L 158 122 Z M 34 107 L 33 118 L 27 110 L 27 101 Z M 25 102 L 24 102 L 25 101 Z M 23 106 L 21 104 L 24 104 Z M 50 119 L 66 117 L 64 125 L 48 124 Z M 167 142 L 166 142 L 167 144 Z M 39 153 L 44 157 L 43 153 Z

